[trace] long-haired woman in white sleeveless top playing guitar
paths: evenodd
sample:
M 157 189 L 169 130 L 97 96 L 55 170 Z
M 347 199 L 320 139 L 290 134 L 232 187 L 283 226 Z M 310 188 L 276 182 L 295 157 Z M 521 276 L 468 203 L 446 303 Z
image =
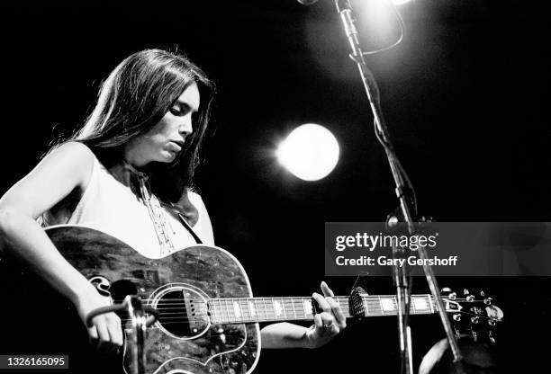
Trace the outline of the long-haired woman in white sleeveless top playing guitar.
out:
M 5 248 L 16 248 L 24 263 L 74 304 L 82 321 L 106 301 L 59 254 L 41 225 L 94 227 L 150 258 L 198 240 L 213 245 L 203 200 L 191 191 L 212 94 L 211 82 L 187 58 L 160 49 L 135 53 L 106 79 L 84 127 L 0 200 Z M 313 348 L 338 334 L 345 318 L 325 283 L 321 289 L 324 296 L 313 296 L 323 310 L 315 324 L 268 325 L 263 347 Z M 88 334 L 101 350 L 122 345 L 118 316 L 96 316 L 93 322 Z

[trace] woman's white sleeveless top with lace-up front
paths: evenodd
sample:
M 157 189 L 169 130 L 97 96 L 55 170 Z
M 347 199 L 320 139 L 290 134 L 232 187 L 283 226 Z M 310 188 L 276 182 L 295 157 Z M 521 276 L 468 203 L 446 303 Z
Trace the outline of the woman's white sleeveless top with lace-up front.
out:
M 91 152 L 92 153 L 92 152 Z M 193 229 L 203 244 L 214 245 L 212 225 L 201 196 L 189 191 L 189 200 L 199 211 L 199 218 Z M 69 217 L 67 217 L 69 216 Z M 166 212 L 167 234 L 175 251 L 196 245 L 194 237 L 181 222 Z M 114 236 L 149 258 L 160 258 L 161 247 L 148 208 L 132 193 L 130 187 L 117 181 L 104 165 L 94 156 L 90 182 L 86 186 L 77 208 L 71 213 L 48 211 L 44 213 L 43 224 L 81 225 L 92 227 Z

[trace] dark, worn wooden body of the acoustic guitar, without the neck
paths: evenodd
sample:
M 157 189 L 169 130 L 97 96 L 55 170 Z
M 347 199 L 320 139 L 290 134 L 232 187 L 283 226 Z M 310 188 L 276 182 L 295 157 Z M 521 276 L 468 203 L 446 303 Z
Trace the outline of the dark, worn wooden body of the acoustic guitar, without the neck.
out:
M 212 325 L 206 317 L 209 298 L 252 297 L 247 274 L 228 252 L 195 245 L 153 260 L 95 229 L 63 225 L 46 233 L 100 293 L 117 301 L 136 294 L 158 309 L 160 318 L 148 329 L 145 346 L 148 373 L 254 369 L 260 353 L 258 324 Z M 128 352 L 125 346 L 124 369 L 130 373 Z

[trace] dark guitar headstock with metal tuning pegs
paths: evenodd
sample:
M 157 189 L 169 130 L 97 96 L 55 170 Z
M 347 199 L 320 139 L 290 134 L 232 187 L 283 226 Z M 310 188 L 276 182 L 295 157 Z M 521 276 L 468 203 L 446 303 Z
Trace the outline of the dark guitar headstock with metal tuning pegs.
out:
M 442 289 L 442 300 L 457 335 L 470 335 L 474 342 L 488 340 L 495 343 L 495 326 L 503 319 L 503 311 L 493 305 L 493 299 L 483 290 L 463 289 L 457 294 Z

